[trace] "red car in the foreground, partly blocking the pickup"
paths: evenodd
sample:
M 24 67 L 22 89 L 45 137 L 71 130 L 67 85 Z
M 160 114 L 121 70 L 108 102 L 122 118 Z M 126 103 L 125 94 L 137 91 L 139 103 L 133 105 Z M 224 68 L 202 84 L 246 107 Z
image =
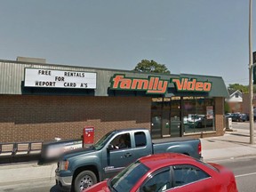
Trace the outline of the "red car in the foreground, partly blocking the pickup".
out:
M 190 156 L 168 153 L 144 156 L 116 177 L 84 192 L 237 192 L 233 172 Z

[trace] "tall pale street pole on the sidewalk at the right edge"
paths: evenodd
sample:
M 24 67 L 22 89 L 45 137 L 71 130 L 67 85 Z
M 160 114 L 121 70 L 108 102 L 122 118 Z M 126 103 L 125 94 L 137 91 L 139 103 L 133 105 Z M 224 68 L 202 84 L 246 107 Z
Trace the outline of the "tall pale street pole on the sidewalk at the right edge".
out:
M 249 0 L 249 105 L 250 105 L 250 144 L 254 143 L 254 127 L 253 127 L 253 65 L 252 65 L 252 0 Z

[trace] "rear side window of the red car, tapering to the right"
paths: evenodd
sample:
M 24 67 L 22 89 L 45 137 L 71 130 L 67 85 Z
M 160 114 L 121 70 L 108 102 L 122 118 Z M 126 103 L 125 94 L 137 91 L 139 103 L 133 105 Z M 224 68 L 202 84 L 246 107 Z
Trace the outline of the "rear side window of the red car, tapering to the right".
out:
M 210 177 L 200 168 L 190 164 L 174 165 L 172 169 L 174 188 Z

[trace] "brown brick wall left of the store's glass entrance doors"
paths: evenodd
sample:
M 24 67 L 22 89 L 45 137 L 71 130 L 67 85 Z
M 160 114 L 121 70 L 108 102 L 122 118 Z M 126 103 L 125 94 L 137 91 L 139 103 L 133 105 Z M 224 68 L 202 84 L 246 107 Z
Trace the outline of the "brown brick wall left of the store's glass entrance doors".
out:
M 80 138 L 95 127 L 95 140 L 114 129 L 150 128 L 147 97 L 0 96 L 0 142 Z

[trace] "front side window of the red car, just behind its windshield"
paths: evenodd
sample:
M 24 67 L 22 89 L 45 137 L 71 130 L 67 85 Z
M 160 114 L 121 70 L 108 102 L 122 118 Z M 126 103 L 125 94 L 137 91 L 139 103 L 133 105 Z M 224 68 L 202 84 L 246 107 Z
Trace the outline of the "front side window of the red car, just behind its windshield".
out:
M 148 180 L 140 187 L 140 192 L 164 191 L 171 188 L 170 170 L 149 175 Z

